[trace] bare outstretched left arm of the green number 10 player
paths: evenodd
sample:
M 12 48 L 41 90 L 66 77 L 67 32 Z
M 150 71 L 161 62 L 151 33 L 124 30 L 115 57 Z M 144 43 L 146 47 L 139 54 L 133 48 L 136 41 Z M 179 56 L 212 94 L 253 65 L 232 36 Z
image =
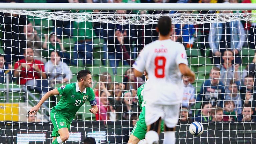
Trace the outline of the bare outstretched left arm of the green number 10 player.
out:
M 59 91 L 57 89 L 54 89 L 54 90 L 51 90 L 51 91 L 48 91 L 42 98 L 41 100 L 39 101 L 39 103 L 32 107 L 29 111 L 29 113 L 33 113 L 34 115 L 38 112 L 39 108 L 41 107 L 41 105 L 50 97 L 50 96 L 53 96 L 53 95 L 59 95 Z

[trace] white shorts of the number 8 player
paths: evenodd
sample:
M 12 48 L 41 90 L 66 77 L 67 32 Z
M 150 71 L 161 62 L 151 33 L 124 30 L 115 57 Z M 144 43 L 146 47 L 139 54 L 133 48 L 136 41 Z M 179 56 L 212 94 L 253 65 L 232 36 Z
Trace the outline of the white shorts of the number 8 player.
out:
M 151 125 L 161 117 L 168 128 L 174 128 L 179 120 L 179 109 L 180 104 L 159 105 L 146 103 L 145 122 L 147 125 Z

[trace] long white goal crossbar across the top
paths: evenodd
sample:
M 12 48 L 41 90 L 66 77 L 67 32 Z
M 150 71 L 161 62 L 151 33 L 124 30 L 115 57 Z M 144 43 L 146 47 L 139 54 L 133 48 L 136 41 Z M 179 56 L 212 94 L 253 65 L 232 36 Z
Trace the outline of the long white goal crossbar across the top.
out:
M 0 9 L 17 10 L 256 10 L 256 4 L 180 3 L 0 3 Z

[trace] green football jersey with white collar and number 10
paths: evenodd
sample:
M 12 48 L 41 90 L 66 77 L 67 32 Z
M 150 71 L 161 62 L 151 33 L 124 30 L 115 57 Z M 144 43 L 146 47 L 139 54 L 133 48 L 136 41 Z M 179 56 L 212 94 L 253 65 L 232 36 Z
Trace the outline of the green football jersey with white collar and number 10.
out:
M 78 83 L 71 83 L 58 88 L 62 95 L 59 103 L 52 108 L 51 113 L 59 113 L 70 122 L 75 117 L 76 112 L 86 102 L 92 101 L 91 105 L 96 105 L 95 95 L 92 88 L 86 88 L 80 92 Z M 95 101 L 94 101 L 95 100 Z

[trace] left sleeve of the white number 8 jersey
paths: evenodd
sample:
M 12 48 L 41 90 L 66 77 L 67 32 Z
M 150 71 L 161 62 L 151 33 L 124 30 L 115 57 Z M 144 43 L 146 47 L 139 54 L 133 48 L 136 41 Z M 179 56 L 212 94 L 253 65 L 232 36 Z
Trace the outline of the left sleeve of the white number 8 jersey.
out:
M 137 60 L 132 65 L 133 68 L 135 68 L 139 72 L 144 72 L 144 70 L 145 70 L 145 66 L 146 66 L 146 53 L 147 53 L 147 49 L 146 49 L 146 47 L 144 47 L 142 49 L 142 51 L 140 52 Z

